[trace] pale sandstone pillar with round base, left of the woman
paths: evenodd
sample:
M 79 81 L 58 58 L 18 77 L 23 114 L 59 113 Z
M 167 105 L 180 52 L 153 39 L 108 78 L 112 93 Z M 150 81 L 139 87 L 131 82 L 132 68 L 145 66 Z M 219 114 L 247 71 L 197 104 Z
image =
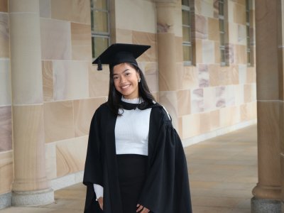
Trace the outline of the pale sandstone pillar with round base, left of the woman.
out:
M 12 205 L 53 202 L 45 175 L 38 0 L 9 0 L 13 105 Z

